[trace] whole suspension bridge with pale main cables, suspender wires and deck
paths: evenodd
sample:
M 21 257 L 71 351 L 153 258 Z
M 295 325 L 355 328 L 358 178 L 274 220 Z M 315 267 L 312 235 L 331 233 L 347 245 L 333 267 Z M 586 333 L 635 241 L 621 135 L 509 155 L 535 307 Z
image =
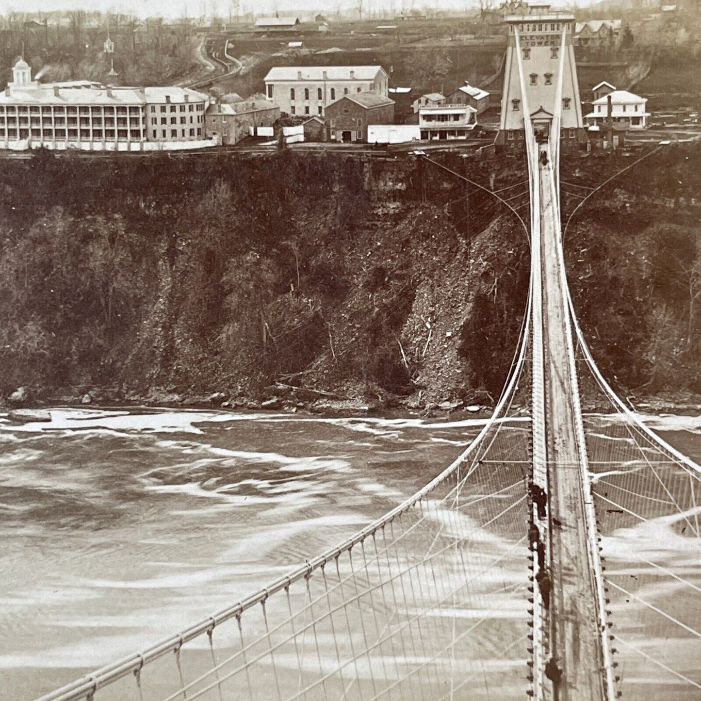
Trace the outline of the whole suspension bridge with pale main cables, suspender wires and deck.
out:
M 528 115 L 518 28 L 515 45 Z M 530 226 L 511 209 L 531 245 L 519 345 L 479 435 L 348 540 L 41 701 L 701 698 L 701 469 L 619 399 L 578 324 L 564 29 L 560 47 L 547 139 L 524 120 Z M 583 383 L 607 411 L 583 415 Z

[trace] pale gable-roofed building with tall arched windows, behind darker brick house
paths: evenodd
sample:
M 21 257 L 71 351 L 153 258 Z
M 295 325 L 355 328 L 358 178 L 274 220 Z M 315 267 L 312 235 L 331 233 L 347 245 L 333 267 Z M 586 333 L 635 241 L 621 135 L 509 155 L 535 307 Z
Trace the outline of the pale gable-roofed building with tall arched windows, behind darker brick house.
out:
M 266 97 L 287 114 L 325 116 L 344 95 L 388 97 L 389 76 L 381 66 L 278 66 L 265 76 Z

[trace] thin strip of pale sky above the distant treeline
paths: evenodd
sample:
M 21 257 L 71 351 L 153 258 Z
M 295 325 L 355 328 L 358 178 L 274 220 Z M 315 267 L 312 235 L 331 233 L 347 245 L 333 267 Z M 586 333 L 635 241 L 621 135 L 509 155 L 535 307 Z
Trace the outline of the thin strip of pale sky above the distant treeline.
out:
M 275 8 L 280 13 L 304 12 L 309 13 L 315 8 L 335 13 L 341 8 L 357 7 L 358 0 L 239 0 L 241 11 L 254 9 L 257 14 L 274 14 Z M 424 7 L 437 9 L 475 8 L 478 0 L 363 0 L 364 12 L 369 8 L 373 11 L 393 7 L 396 13 L 409 11 L 411 8 Z M 494 0 L 498 6 L 499 0 Z M 554 1 L 553 5 L 562 4 Z M 580 4 L 582 4 L 580 2 Z M 57 9 L 102 10 L 134 13 L 142 17 L 189 17 L 212 15 L 214 10 L 219 17 L 227 17 L 233 8 L 231 0 L 0 0 L 0 14 L 10 11 L 20 13 L 36 13 L 39 11 L 55 11 Z

